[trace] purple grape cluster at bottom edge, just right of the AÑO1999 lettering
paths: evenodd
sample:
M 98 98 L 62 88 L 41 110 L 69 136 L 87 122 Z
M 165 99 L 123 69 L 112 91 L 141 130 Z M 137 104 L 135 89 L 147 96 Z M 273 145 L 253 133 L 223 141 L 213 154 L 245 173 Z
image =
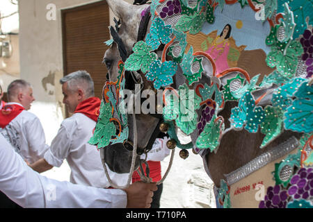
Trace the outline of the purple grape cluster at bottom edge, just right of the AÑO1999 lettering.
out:
M 280 185 L 268 187 L 264 200 L 259 203 L 259 208 L 286 208 L 288 203 L 287 190 Z

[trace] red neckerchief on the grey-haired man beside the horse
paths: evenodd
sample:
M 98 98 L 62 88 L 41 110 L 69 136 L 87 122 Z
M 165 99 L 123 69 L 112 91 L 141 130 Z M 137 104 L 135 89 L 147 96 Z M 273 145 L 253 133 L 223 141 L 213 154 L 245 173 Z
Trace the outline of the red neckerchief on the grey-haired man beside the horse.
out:
M 97 121 L 99 117 L 101 100 L 97 97 L 90 97 L 77 105 L 74 113 L 84 114 L 86 117 L 93 119 L 93 121 Z

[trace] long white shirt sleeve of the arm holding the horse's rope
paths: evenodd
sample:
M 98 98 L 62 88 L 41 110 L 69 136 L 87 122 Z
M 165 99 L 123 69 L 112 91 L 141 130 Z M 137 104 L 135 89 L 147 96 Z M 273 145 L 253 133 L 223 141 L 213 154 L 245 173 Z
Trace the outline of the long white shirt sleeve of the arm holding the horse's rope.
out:
M 21 207 L 126 207 L 120 189 L 73 185 L 41 176 L 0 135 L 0 190 Z

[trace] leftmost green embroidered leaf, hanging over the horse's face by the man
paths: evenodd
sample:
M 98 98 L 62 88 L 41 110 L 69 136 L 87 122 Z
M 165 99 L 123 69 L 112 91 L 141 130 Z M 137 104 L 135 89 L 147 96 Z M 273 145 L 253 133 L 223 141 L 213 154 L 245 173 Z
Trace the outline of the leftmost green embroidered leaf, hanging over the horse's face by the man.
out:
M 110 121 L 112 117 L 111 111 L 110 103 L 104 103 L 102 101 L 95 133 L 93 133 L 93 137 L 89 139 L 89 144 L 97 145 L 98 148 L 104 148 L 109 145 L 111 137 L 115 136 L 116 132 L 114 123 Z

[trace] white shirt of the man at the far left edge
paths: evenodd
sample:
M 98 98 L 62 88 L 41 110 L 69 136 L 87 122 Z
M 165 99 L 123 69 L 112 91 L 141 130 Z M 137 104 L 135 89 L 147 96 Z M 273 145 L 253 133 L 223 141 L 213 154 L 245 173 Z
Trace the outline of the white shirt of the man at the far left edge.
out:
M 6 103 L 6 105 L 19 103 Z M 22 106 L 22 105 L 21 105 Z M 49 146 L 46 144 L 45 132 L 35 114 L 23 110 L 0 133 L 29 163 L 40 160 Z

